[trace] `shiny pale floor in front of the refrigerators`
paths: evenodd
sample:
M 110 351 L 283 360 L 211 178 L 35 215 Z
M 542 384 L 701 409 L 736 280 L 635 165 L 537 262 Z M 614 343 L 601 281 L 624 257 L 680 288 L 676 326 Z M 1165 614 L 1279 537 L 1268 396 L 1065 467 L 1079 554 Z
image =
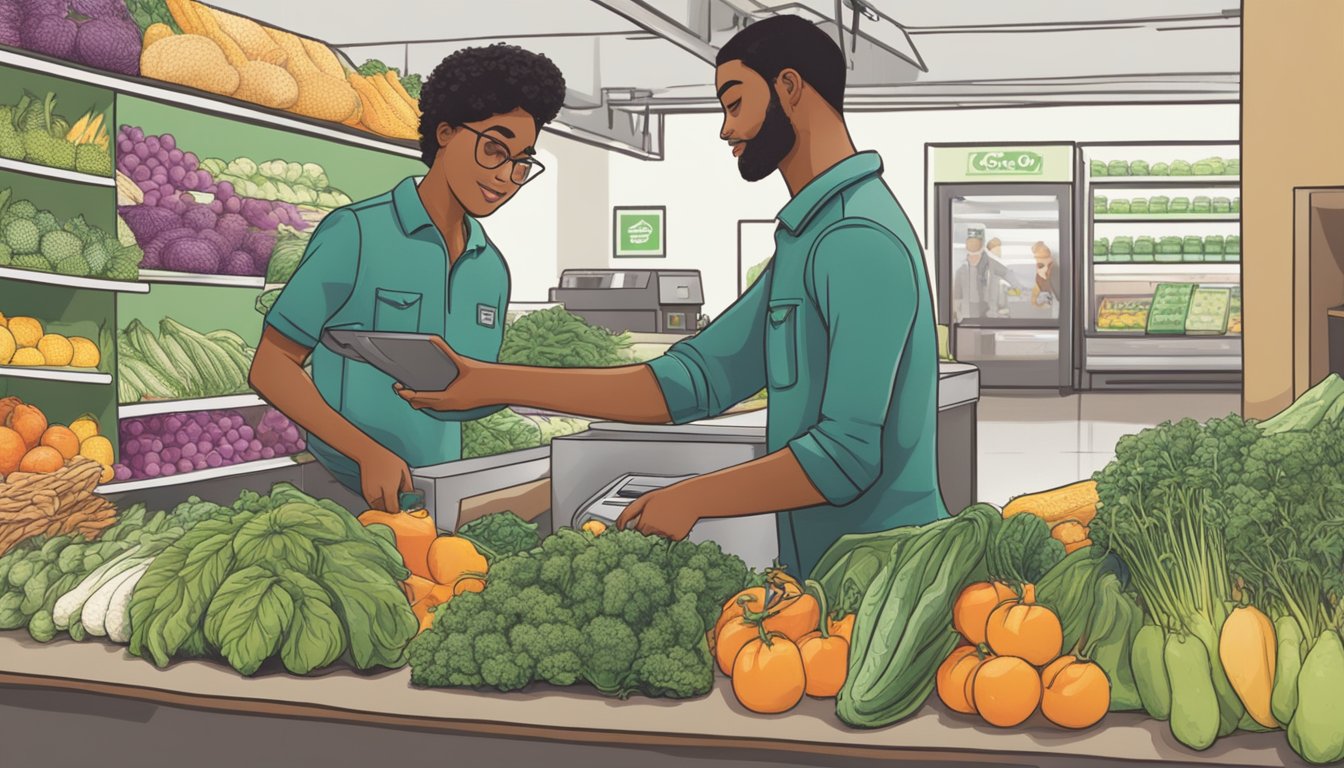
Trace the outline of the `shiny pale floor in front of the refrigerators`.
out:
M 1204 421 L 1241 410 L 1238 394 L 982 395 L 978 496 L 992 504 L 1091 476 L 1116 441 L 1184 417 Z

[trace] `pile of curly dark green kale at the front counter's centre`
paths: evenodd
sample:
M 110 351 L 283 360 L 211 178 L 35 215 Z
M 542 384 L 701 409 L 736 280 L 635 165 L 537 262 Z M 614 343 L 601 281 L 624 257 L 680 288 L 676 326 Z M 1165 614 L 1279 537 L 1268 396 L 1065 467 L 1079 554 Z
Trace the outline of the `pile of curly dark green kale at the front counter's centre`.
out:
M 496 561 L 484 592 L 439 607 L 410 646 L 411 682 L 703 695 L 714 685 L 706 632 L 747 576 L 712 542 L 566 529 Z

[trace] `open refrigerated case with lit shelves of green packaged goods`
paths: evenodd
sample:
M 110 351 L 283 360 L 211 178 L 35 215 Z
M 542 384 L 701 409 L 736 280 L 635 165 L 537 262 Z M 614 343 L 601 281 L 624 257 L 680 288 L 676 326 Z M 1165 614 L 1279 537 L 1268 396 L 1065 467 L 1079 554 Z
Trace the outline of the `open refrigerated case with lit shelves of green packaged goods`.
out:
M 1242 381 L 1235 143 L 1079 144 L 1075 386 L 1235 390 Z M 1154 325 L 1154 295 L 1202 297 Z M 1188 286 L 1188 288 L 1187 288 Z M 1226 309 L 1226 323 L 1207 309 Z M 1177 312 L 1179 313 L 1179 312 Z M 1172 315 L 1167 311 L 1165 315 Z

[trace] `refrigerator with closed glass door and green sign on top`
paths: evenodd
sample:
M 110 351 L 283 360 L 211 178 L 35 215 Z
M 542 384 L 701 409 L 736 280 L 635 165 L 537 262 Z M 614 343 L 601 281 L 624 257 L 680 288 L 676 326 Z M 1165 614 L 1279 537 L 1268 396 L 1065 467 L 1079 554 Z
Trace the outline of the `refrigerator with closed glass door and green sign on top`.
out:
M 1073 145 L 929 147 L 938 321 L 985 389 L 1071 386 L 1073 156 Z

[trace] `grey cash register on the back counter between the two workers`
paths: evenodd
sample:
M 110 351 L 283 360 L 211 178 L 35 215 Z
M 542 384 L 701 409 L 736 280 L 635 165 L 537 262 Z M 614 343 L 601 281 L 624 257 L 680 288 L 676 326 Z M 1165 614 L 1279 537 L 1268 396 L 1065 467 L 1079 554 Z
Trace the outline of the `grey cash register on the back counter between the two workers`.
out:
M 707 321 L 698 269 L 566 269 L 550 300 L 613 334 L 691 335 Z

